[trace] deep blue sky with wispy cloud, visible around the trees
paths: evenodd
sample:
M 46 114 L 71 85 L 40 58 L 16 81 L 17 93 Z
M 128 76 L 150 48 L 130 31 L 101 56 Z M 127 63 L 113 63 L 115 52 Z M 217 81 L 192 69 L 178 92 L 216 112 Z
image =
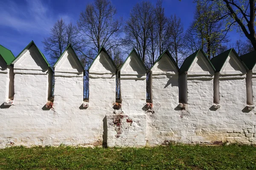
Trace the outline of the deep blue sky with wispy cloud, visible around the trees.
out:
M 157 0 L 150 0 L 154 5 Z M 17 56 L 23 48 L 34 40 L 44 53 L 42 41 L 49 37 L 50 28 L 59 19 L 74 23 L 93 0 L 0 0 L 0 44 L 12 50 Z M 131 8 L 138 0 L 112 0 L 117 8 L 117 16 L 128 19 Z M 184 31 L 193 20 L 195 3 L 192 0 L 163 0 L 166 16 L 176 14 L 181 18 Z M 236 31 L 229 33 L 235 42 L 241 38 Z M 48 56 L 46 55 L 47 59 Z

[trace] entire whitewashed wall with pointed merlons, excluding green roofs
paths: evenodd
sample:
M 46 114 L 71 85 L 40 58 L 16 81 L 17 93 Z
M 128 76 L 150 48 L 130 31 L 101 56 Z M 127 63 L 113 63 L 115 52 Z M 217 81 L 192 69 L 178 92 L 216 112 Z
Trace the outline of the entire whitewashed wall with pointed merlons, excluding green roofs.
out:
M 0 147 L 256 144 L 256 111 L 246 108 L 246 70 L 233 54 L 219 72 L 220 108 L 213 107 L 214 71 L 202 54 L 182 77 L 167 53 L 151 68 L 153 108 L 146 108 L 146 71 L 131 53 L 120 72 L 119 109 L 113 109 L 116 68 L 104 50 L 89 69 L 89 107 L 83 106 L 83 68 L 71 48 L 55 65 L 52 108 L 45 106 L 52 72 L 33 46 L 21 55 L 14 64 L 14 105 L 0 107 Z M 0 66 L 2 104 L 10 97 L 12 78 L 7 66 L 3 69 L 2 62 Z M 186 85 L 178 85 L 179 76 Z M 186 87 L 187 108 L 179 106 L 179 87 Z M 255 105 L 254 72 L 252 87 Z

